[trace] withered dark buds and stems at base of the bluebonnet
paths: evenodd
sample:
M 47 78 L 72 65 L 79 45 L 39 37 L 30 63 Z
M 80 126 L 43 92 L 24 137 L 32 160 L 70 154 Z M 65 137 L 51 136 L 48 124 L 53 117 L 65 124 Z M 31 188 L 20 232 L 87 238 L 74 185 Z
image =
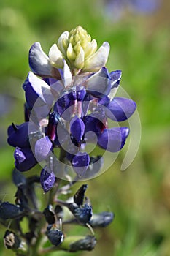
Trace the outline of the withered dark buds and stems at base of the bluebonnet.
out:
M 3 202 L 0 204 L 1 223 L 7 227 L 4 234 L 4 245 L 7 249 L 16 252 L 17 255 L 31 255 L 31 245 L 34 244 L 34 254 L 41 255 L 45 252 L 45 237 L 55 249 L 63 249 L 68 252 L 77 252 L 80 250 L 92 250 L 96 246 L 96 238 L 92 236 L 65 236 L 65 226 L 82 225 L 90 228 L 106 227 L 109 225 L 114 215 L 112 212 L 101 212 L 93 214 L 92 206 L 87 197 L 85 197 L 87 184 L 83 184 L 80 189 L 68 201 L 53 198 L 52 204 L 41 211 L 39 209 L 39 198 L 35 187 L 39 184 L 39 176 L 31 176 L 26 178 L 18 170 L 13 170 L 12 179 L 17 187 L 15 193 L 15 204 Z M 35 186 L 36 184 L 36 186 Z M 68 192 L 69 187 L 61 187 L 58 191 L 58 197 L 63 192 Z M 85 202 L 84 202 L 85 201 Z M 41 202 L 42 203 L 42 202 Z M 68 214 L 68 211 L 70 214 Z M 23 219 L 28 220 L 28 230 L 26 227 L 23 231 L 21 222 Z M 10 230 L 8 228 L 10 223 Z M 61 224 L 63 227 L 61 227 Z M 20 229 L 18 230 L 18 227 Z M 26 232 L 26 233 L 25 233 Z M 38 233 L 43 236 L 42 247 L 39 245 Z M 49 247 L 53 251 L 53 247 Z M 36 250 L 36 251 L 35 251 Z

